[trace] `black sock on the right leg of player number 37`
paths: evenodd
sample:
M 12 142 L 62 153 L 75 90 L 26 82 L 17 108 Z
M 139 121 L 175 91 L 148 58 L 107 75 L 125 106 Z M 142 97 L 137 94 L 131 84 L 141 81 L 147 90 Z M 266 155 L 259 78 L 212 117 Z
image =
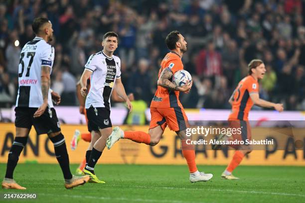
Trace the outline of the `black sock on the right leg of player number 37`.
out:
M 60 165 L 60 168 L 64 175 L 64 179 L 71 179 L 72 174 L 69 166 L 69 155 L 67 152 L 66 142 L 63 134 L 60 133 L 55 137 L 51 137 L 50 140 L 54 144 L 56 159 Z

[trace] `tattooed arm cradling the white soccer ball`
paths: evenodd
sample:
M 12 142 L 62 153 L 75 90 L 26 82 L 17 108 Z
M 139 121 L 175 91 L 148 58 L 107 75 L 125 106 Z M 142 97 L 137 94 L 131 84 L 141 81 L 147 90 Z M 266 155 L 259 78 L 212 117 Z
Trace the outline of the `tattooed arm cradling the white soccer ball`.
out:
M 169 81 L 169 79 L 171 79 L 171 78 L 172 78 L 172 72 L 170 70 L 164 68 L 158 79 L 157 85 L 159 85 L 163 88 L 166 88 L 168 90 L 181 91 L 181 92 L 187 92 L 192 87 L 192 83 L 185 84 L 183 87 L 179 87 L 176 84 Z

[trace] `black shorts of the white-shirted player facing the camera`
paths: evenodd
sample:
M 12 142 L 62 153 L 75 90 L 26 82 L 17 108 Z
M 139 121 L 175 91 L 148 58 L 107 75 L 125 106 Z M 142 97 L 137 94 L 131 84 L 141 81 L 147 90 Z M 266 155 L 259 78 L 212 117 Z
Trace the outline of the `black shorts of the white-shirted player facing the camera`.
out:
M 98 131 L 107 127 L 112 127 L 110 120 L 110 110 L 105 107 L 86 108 L 88 119 L 88 131 Z

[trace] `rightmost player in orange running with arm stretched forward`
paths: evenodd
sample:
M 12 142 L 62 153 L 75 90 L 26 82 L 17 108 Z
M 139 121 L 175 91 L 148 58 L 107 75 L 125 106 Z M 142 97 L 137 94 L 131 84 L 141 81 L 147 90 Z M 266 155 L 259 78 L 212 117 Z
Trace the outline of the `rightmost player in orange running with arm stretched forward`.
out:
M 248 121 L 248 114 L 253 104 L 262 107 L 275 108 L 281 112 L 284 110 L 282 103 L 267 102 L 259 97 L 258 80 L 263 79 L 266 69 L 262 60 L 254 59 L 249 65 L 249 76 L 242 79 L 235 91 L 233 92 L 229 103 L 232 105 L 232 112 L 229 115 L 228 121 L 231 128 L 241 127 L 242 134 L 232 135 L 235 140 L 251 139 L 251 128 Z M 231 139 L 226 135 L 220 135 L 218 140 Z M 233 170 L 241 163 L 244 156 L 250 153 L 251 147 L 249 145 L 232 146 L 236 149 L 235 154 L 226 168 L 221 174 L 221 178 L 228 180 L 237 180 L 239 178 L 232 175 Z M 213 146 L 213 149 L 220 148 L 220 145 Z

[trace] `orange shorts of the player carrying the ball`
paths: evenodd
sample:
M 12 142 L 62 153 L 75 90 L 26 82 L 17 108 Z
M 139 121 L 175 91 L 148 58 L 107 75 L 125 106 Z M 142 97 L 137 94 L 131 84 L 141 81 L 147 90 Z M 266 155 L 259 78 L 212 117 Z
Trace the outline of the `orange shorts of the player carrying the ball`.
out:
M 189 127 L 183 107 L 155 108 L 151 107 L 150 129 L 158 125 L 164 130 L 168 125 L 172 131 L 182 131 Z

